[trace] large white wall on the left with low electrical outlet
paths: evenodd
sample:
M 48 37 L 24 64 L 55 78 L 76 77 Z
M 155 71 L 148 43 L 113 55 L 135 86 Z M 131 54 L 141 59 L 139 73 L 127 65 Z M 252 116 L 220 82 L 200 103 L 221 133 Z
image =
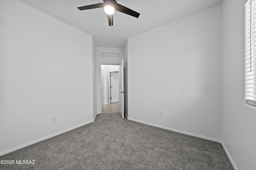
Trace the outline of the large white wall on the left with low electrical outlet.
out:
M 0 154 L 93 120 L 91 35 L 0 0 L 0 37 Z

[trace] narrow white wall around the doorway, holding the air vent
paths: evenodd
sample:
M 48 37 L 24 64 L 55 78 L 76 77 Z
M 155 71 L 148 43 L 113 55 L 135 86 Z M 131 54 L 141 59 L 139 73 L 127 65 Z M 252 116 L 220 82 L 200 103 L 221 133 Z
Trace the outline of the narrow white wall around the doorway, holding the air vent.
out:
M 120 58 L 101 57 L 101 53 L 120 53 Z M 100 64 L 120 65 L 124 59 L 124 49 L 96 47 L 97 113 L 101 113 L 101 70 Z

